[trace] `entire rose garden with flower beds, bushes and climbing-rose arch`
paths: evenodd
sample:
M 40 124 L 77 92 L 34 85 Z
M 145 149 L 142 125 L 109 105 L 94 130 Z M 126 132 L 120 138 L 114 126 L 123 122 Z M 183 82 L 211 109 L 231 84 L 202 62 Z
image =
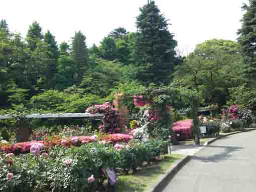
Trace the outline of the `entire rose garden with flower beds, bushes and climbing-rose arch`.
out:
M 192 107 L 184 116 L 172 107 L 177 97 Z M 118 175 L 135 174 L 138 168 L 160 162 L 170 143 L 194 139 L 199 144 L 199 137 L 237 131 L 253 121 L 250 110 L 239 110 L 236 105 L 207 117 L 200 115 L 199 109 L 197 94 L 189 90 L 159 87 L 135 95 L 116 93 L 112 104 L 93 105 L 85 110 L 104 115 L 96 126 L 94 122 L 34 129 L 28 135 L 30 141 L 23 142 L 16 142 L 21 138 L 19 126 L 29 126 L 30 120 L 26 114 L 13 114 L 15 120 L 6 123 L 15 122 L 16 134 L 2 132 L 0 143 L 0 190 L 114 190 Z M 129 120 L 132 110 L 137 111 L 135 120 Z M 82 122 L 88 121 L 93 120 Z M 86 135 L 84 126 L 88 126 Z M 201 126 L 207 128 L 207 133 L 200 133 Z

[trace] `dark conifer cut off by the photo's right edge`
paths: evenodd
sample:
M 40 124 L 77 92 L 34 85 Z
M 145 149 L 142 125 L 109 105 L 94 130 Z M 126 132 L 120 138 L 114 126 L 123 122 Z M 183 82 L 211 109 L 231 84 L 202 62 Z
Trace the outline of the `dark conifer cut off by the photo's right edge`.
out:
M 242 27 L 238 30 L 238 42 L 242 47 L 244 56 L 243 77 L 248 85 L 255 87 L 256 78 L 256 1 L 249 0 L 249 5 L 243 4 L 245 11 L 241 22 Z

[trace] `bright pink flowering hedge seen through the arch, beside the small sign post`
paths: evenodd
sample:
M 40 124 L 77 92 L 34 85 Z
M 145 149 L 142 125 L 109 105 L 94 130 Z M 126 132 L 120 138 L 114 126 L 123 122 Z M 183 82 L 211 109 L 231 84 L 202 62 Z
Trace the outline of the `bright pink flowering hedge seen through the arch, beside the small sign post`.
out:
M 193 125 L 193 120 L 183 120 L 183 121 L 178 121 L 173 124 L 172 130 L 179 134 L 180 136 L 185 136 L 185 138 L 190 138 L 192 137 L 192 125 Z

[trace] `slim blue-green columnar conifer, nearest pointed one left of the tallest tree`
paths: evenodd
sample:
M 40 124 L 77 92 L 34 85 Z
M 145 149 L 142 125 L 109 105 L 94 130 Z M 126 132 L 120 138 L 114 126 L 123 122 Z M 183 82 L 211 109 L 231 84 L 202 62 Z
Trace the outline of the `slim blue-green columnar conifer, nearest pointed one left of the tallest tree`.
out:
M 77 83 L 79 83 L 84 72 L 88 69 L 88 48 L 86 45 L 86 37 L 81 31 L 75 32 L 75 36 L 72 38 L 71 55 L 77 68 Z

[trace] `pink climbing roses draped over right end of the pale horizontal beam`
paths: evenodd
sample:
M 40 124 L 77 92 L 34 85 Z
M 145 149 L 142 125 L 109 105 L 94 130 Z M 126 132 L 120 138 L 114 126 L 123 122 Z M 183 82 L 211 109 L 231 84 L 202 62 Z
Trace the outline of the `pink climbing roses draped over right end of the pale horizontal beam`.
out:
M 87 113 L 104 113 L 102 119 L 102 124 L 99 126 L 99 129 L 104 133 L 119 133 L 120 129 L 117 125 L 117 120 L 120 118 L 120 115 L 117 113 L 117 109 L 114 109 L 109 102 L 103 105 L 93 105 L 86 109 Z

